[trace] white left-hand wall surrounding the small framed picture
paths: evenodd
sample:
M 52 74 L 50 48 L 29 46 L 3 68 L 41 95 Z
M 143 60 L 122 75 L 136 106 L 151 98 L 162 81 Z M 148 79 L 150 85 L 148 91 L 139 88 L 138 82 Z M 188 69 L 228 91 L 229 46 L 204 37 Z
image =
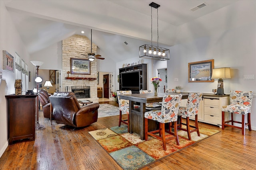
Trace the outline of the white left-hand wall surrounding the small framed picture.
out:
M 3 50 L 8 51 L 14 57 L 14 60 L 15 52 L 18 53 L 23 61 L 28 64 L 28 70 L 33 70 L 29 60 L 30 56 L 20 39 L 20 35 L 4 3 L 4 1 L 0 1 L 0 71 L 2 72 L 2 79 L 0 79 L 0 156 L 2 156 L 4 150 L 8 147 L 5 95 L 15 94 L 14 82 L 16 78 L 15 72 L 3 70 Z

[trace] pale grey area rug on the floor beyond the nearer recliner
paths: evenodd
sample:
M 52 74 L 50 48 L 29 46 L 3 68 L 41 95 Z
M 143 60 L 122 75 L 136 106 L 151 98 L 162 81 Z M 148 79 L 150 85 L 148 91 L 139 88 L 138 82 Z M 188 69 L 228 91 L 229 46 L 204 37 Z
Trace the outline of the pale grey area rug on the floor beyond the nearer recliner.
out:
M 110 104 L 100 104 L 98 108 L 98 117 L 108 117 L 119 115 L 119 107 Z

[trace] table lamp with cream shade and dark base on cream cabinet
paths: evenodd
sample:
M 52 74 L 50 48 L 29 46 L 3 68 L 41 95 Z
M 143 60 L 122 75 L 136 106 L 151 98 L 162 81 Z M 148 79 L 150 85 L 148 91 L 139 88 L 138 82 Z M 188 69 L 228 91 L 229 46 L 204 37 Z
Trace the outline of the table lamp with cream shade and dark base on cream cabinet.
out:
M 226 79 L 226 78 L 231 78 L 230 68 L 223 67 L 223 68 L 214 68 L 214 69 L 212 69 L 211 79 L 218 79 L 218 88 L 217 88 L 216 95 L 225 95 L 222 79 Z

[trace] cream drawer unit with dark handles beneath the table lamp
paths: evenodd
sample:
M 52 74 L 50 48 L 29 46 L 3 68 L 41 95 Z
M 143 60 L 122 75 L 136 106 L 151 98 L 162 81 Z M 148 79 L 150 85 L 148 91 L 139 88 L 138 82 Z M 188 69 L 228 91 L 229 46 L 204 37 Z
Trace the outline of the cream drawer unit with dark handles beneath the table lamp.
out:
M 204 121 L 213 125 L 222 124 L 221 107 L 229 104 L 229 96 L 204 96 Z M 225 120 L 229 115 L 225 114 Z

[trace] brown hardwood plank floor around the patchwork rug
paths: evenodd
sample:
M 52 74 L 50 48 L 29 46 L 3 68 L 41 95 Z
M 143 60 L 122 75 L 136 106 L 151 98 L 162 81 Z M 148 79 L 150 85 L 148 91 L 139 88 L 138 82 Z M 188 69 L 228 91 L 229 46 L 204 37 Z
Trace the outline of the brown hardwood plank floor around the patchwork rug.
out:
M 102 102 L 118 106 L 116 102 Z M 40 112 L 45 130 L 36 132 L 35 141 L 9 145 L 0 158 L 0 170 L 121 170 L 122 168 L 88 133 L 118 125 L 119 116 L 98 118 L 80 129 L 50 125 Z M 256 131 L 242 136 L 240 129 L 199 123 L 221 132 L 180 150 L 142 169 L 148 170 L 252 170 L 256 169 Z

